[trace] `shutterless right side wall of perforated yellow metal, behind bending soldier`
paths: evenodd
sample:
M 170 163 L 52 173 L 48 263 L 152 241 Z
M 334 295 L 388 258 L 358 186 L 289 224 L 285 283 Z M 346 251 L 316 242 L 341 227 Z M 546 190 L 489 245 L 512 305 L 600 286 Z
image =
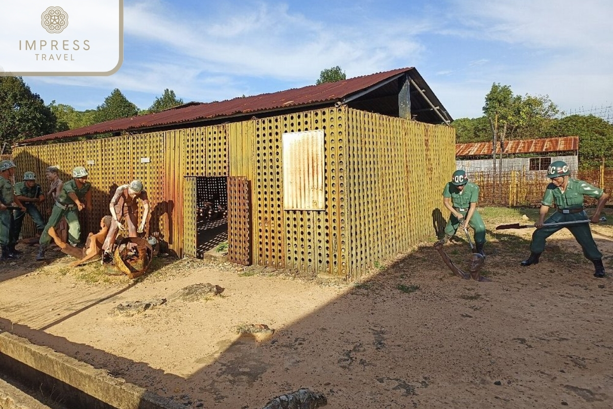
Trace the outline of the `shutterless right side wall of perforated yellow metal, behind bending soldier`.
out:
M 350 264 L 357 278 L 424 240 L 435 239 L 442 196 L 454 171 L 455 133 L 349 109 L 345 185 Z

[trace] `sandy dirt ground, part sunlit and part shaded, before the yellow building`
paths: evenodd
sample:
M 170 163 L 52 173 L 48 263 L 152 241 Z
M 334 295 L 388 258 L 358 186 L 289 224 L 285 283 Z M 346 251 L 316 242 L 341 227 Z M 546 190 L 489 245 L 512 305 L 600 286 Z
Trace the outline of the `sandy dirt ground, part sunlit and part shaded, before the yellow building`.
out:
M 592 276 L 568 231 L 538 266 L 520 267 L 533 229 L 493 227 L 533 221 L 482 214 L 489 283 L 455 277 L 431 243 L 358 283 L 170 258 L 128 280 L 97 263 L 69 269 L 61 253 L 40 264 L 35 247 L 19 245 L 24 257 L 0 264 L 0 329 L 186 407 L 261 408 L 301 387 L 341 409 L 613 407 L 611 278 Z M 613 237 L 611 226 L 593 231 Z M 613 273 L 613 240 L 595 240 Z M 445 250 L 465 268 L 466 242 Z M 195 283 L 224 291 L 110 315 Z M 240 336 L 242 324 L 275 332 Z

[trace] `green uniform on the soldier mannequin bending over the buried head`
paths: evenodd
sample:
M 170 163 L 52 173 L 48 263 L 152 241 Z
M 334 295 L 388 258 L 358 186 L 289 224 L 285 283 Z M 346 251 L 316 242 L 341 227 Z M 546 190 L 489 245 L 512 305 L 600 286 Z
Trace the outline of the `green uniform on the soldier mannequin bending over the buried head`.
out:
M 443 189 L 443 197 L 451 197 L 452 206 L 457 212 L 462 213 L 462 215 L 466 217 L 470 204 L 479 201 L 479 186 L 468 182 L 460 191 L 452 182 L 448 182 Z M 479 245 L 484 244 L 485 224 L 477 210 L 474 210 L 473 216 L 470 218 L 470 221 L 468 221 L 468 225 L 473 227 L 474 242 Z M 445 226 L 445 234 L 448 236 L 454 235 L 459 226 L 460 221 L 454 215 L 451 215 L 449 222 L 447 222 L 447 226 Z

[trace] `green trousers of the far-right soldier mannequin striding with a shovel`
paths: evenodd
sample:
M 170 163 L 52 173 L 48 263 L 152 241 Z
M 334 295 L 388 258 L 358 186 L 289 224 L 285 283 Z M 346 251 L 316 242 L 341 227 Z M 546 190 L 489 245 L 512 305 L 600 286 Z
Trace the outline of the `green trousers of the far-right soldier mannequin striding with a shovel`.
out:
M 594 238 L 592 237 L 592 229 L 590 229 L 589 223 L 577 224 L 577 226 L 547 227 L 547 223 L 559 223 L 560 221 L 575 220 L 588 220 L 585 211 L 579 213 L 569 213 L 567 215 L 560 212 L 555 212 L 553 215 L 549 216 L 549 218 L 547 218 L 545 221 L 545 227 L 542 229 L 536 229 L 535 232 L 533 232 L 532 242 L 530 243 L 530 251 L 539 254 L 543 253 L 545 250 L 545 242 L 547 237 L 566 227 L 566 229 L 568 229 L 574 235 L 577 243 L 581 245 L 585 258 L 589 260 L 598 260 L 603 258 L 603 253 L 598 251 L 598 247 L 596 247 L 596 242 L 594 242 Z

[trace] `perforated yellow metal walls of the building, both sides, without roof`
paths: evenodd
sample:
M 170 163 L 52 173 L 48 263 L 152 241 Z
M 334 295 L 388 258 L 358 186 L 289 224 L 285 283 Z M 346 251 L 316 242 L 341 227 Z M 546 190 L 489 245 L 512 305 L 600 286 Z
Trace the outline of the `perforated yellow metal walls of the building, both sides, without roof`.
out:
M 324 210 L 284 210 L 283 134 L 316 129 L 324 130 Z M 97 230 L 118 184 L 139 178 L 153 210 L 150 231 L 161 232 L 179 255 L 196 248 L 195 186 L 189 182 L 194 178 L 186 177 L 245 177 L 251 188 L 252 235 L 239 242 L 252 243 L 254 264 L 353 279 L 376 262 L 434 238 L 435 213 L 445 214 L 441 191 L 454 170 L 454 144 L 454 130 L 447 126 L 332 107 L 17 147 L 14 155 L 18 171 L 36 172 L 44 189 L 48 183 L 42 175 L 51 164 L 61 167 L 64 180 L 74 166 L 89 170 L 94 205 L 84 214 L 85 231 Z M 248 234 L 244 227 L 230 226 L 229 231 Z M 31 224 L 25 234 L 34 234 Z

